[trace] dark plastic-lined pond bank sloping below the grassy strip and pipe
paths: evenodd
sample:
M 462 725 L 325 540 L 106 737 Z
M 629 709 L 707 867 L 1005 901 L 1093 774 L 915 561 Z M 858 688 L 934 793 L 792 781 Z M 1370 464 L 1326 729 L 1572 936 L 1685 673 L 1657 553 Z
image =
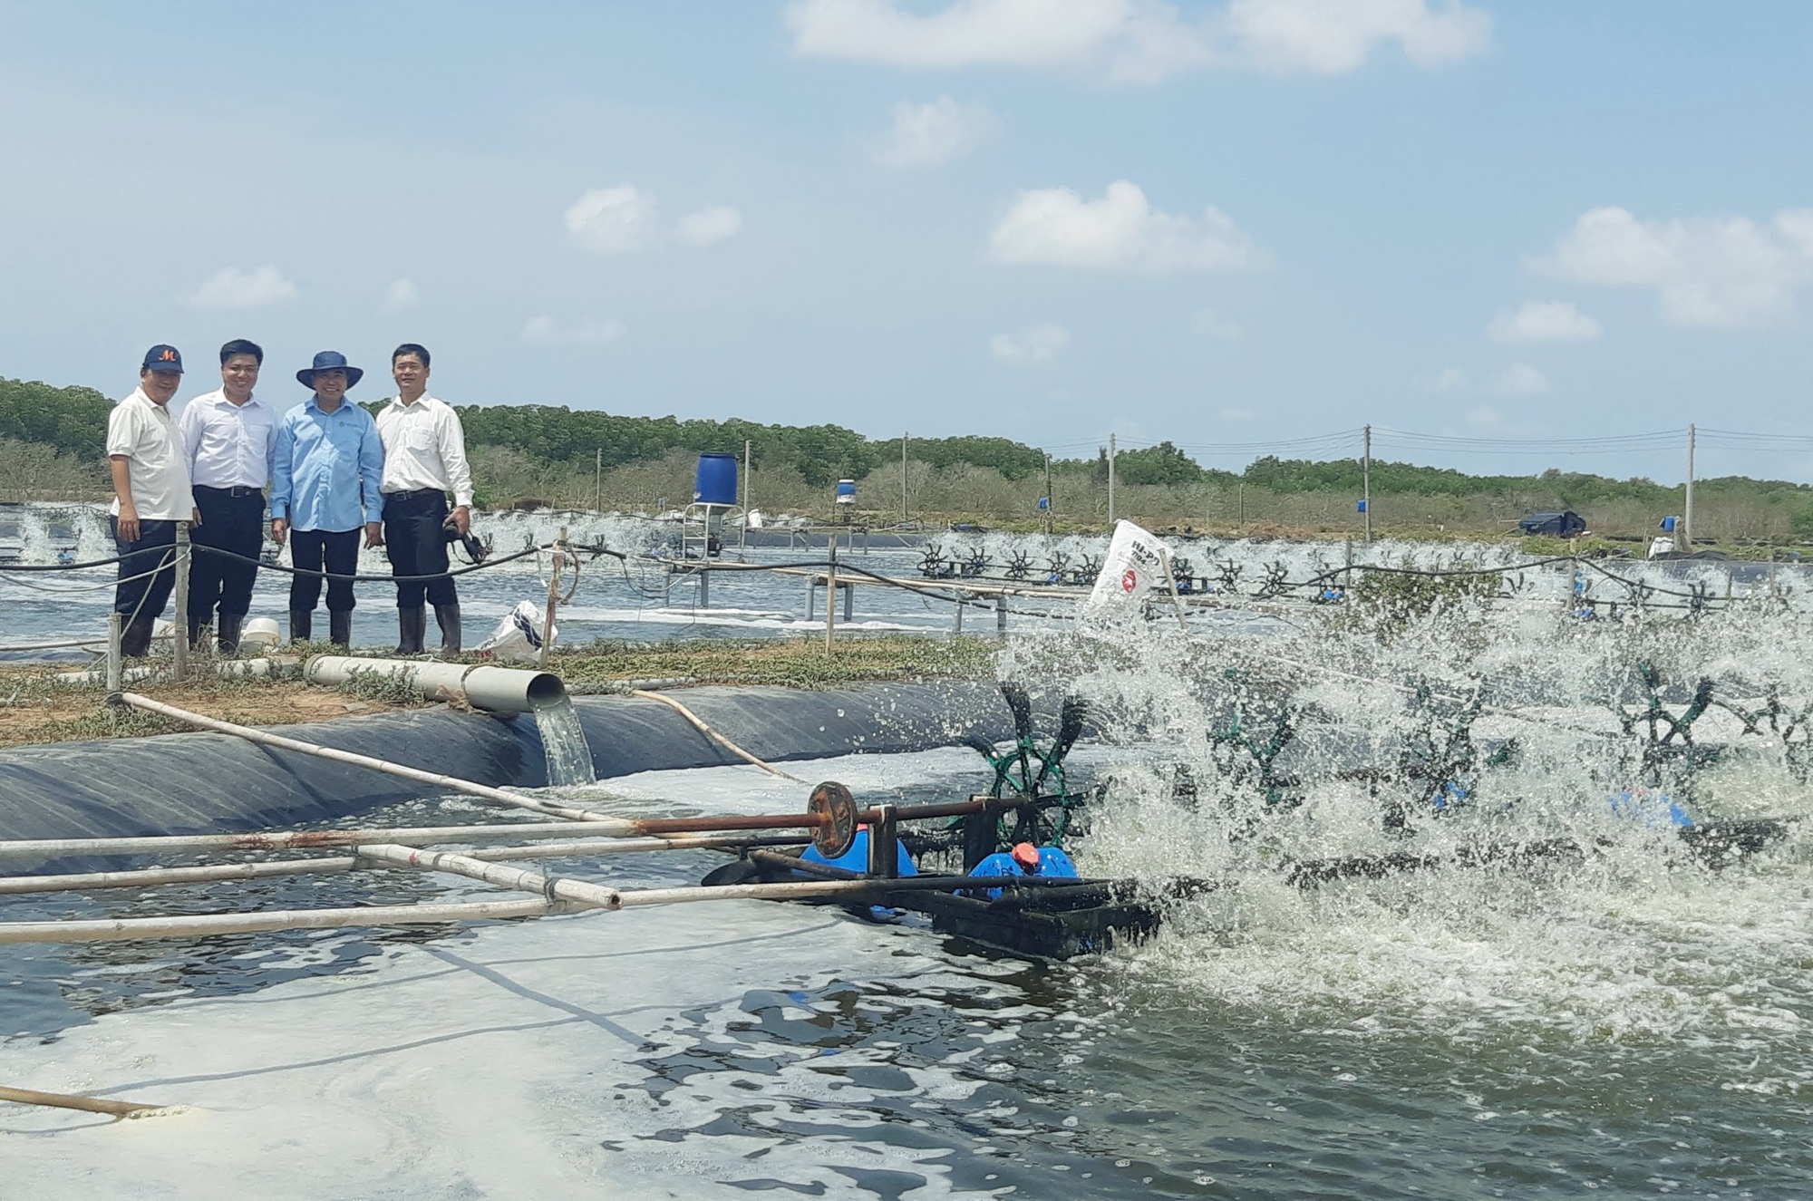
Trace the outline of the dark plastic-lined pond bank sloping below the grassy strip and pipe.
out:
M 970 735 L 1013 737 L 1001 691 L 988 682 L 863 684 L 834 691 L 687 688 L 673 695 L 725 738 L 769 762 L 925 751 L 961 744 Z M 573 708 L 600 780 L 636 771 L 749 767 L 656 700 L 575 697 Z M 1039 706 L 1041 713 L 1052 708 Z M 435 708 L 277 729 L 493 787 L 548 784 L 540 731 L 528 715 L 497 718 Z M 0 751 L 0 838 L 279 829 L 426 793 L 433 789 L 232 735 L 60 742 Z M 801 811 L 805 793 L 801 787 Z

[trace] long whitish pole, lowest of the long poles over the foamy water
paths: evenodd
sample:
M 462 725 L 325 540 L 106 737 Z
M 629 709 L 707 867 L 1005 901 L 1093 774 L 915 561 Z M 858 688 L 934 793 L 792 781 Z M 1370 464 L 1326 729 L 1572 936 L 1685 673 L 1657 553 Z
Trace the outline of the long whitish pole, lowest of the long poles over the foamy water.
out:
M 560 902 L 537 896 L 508 902 L 444 905 L 363 905 L 354 909 L 274 909 L 270 913 L 201 913 L 174 918 L 102 918 L 87 922 L 0 923 L 0 945 L 44 942 L 123 942 L 134 938 L 203 938 L 265 931 L 326 931 L 346 925 L 442 925 L 497 922 L 566 913 Z

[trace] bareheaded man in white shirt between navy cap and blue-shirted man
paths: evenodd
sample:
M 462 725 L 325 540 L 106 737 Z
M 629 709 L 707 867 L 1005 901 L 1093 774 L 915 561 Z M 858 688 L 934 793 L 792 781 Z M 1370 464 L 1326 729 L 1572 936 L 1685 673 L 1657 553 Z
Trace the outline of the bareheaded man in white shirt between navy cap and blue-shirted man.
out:
M 221 386 L 183 406 L 179 428 L 201 524 L 190 535 L 189 640 L 216 626 L 223 655 L 239 649 L 239 630 L 252 608 L 257 555 L 265 548 L 265 486 L 277 450 L 277 412 L 252 395 L 265 352 L 234 339 L 221 347 Z M 214 555 L 216 548 L 236 557 Z

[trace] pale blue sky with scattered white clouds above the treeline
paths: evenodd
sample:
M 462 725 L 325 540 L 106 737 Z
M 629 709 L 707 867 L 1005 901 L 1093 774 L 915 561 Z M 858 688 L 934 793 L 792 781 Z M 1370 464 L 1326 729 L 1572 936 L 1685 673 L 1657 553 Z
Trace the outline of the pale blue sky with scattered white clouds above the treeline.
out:
M 187 395 L 245 336 L 279 403 L 326 347 L 375 397 L 422 341 L 455 403 L 1061 454 L 1113 430 L 1229 466 L 1211 448 L 1363 423 L 1804 432 L 1813 5 L 0 16 L 4 376 L 121 394 L 172 341 Z M 1728 472 L 1813 457 L 1708 444 Z

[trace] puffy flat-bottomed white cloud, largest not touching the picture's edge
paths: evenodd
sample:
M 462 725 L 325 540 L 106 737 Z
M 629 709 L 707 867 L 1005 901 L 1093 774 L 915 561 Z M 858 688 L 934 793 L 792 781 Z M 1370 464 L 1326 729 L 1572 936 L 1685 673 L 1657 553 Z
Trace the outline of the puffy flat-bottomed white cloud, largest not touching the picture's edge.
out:
M 1021 192 L 988 239 L 997 263 L 1104 270 L 1235 270 L 1262 252 L 1213 205 L 1202 220 L 1160 212 L 1135 183 L 1117 180 L 1100 200 L 1068 187 Z

